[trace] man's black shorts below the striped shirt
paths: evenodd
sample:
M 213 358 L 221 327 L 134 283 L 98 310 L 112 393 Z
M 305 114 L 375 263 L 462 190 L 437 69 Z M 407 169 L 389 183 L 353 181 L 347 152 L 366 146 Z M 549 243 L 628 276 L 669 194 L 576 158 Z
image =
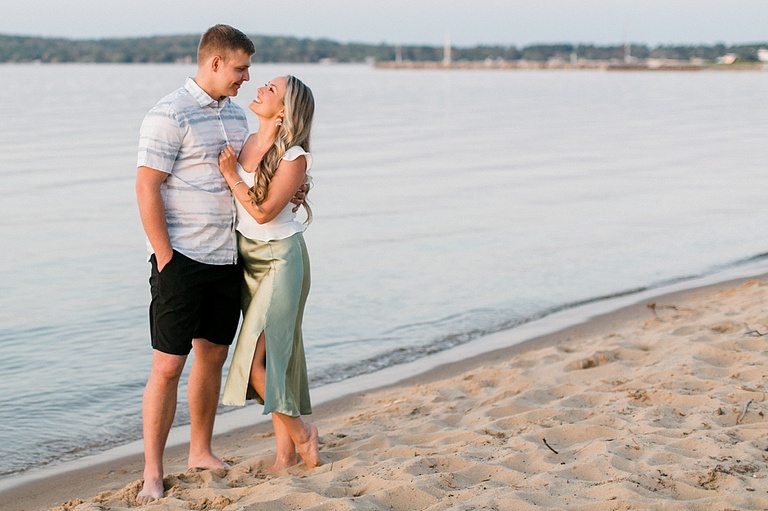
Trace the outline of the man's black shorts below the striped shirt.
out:
M 152 347 L 171 355 L 189 355 L 192 339 L 232 344 L 240 322 L 241 267 L 200 263 L 176 250 L 160 273 L 154 254 L 150 262 Z

